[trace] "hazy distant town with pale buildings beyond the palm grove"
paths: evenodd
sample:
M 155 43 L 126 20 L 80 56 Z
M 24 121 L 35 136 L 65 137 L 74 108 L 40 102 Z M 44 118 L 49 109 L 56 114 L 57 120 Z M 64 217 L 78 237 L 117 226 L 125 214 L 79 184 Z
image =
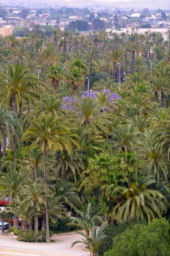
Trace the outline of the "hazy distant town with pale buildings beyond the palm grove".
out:
M 167 39 L 170 27 L 170 10 L 120 8 L 77 8 L 77 7 L 37 7 L 0 6 L 0 35 L 14 33 L 17 37 L 27 37 L 39 25 L 36 33 L 52 35 L 53 29 L 79 32 L 87 35 L 90 31 L 104 29 L 121 33 L 160 32 Z

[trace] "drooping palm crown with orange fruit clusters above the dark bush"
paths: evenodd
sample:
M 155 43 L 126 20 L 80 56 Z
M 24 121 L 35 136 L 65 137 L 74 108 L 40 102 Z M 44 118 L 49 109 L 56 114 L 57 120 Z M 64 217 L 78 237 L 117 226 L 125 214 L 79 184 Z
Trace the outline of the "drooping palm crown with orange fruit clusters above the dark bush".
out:
M 117 187 L 124 199 L 116 205 L 113 214 L 117 214 L 118 221 L 126 221 L 130 218 L 143 219 L 147 215 L 148 222 L 155 218 L 155 214 L 161 218 L 166 211 L 166 200 L 161 192 L 149 189 L 155 181 L 153 176 L 136 177 L 128 187 Z

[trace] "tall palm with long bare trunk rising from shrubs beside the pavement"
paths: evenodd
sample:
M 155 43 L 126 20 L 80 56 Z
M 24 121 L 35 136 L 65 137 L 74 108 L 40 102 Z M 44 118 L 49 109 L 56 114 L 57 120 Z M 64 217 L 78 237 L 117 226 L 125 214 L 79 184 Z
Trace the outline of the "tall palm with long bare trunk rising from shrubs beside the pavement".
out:
M 39 118 L 36 117 L 31 122 L 31 128 L 23 134 L 23 140 L 32 140 L 32 145 L 40 145 L 42 150 L 44 164 L 44 189 L 45 189 L 45 215 L 46 215 L 46 241 L 50 242 L 49 234 L 49 218 L 48 218 L 48 189 L 47 189 L 47 149 L 55 144 L 58 150 L 63 150 L 63 145 L 68 151 L 71 151 L 71 143 L 59 137 L 59 127 L 54 115 L 42 114 Z M 62 127 L 63 128 L 63 127 Z M 61 128 L 60 128 L 61 129 Z M 56 148 L 54 149 L 54 152 Z M 54 154 L 53 152 L 53 154 Z

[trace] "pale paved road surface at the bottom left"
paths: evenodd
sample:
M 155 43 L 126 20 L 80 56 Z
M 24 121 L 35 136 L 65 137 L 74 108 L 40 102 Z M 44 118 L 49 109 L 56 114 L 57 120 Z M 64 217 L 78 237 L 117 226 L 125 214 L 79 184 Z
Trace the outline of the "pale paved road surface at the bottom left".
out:
M 35 251 L 48 251 L 51 253 L 70 253 L 70 254 L 82 254 L 88 253 L 85 249 L 84 244 L 76 244 L 71 248 L 71 244 L 74 241 L 81 240 L 82 236 L 77 233 L 71 234 L 61 234 L 53 236 L 53 240 L 57 241 L 56 244 L 27 244 L 21 243 L 13 238 L 11 235 L 1 235 L 0 234 L 0 247 L 9 249 L 25 249 L 25 250 L 35 250 Z

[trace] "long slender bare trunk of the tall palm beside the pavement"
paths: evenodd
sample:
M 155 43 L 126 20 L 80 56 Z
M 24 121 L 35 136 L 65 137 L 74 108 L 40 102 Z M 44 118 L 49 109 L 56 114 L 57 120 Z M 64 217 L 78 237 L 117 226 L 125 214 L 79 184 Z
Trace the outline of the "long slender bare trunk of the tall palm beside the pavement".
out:
M 50 242 L 50 230 L 49 230 L 49 219 L 48 219 L 48 200 L 47 200 L 47 143 L 44 143 L 43 150 L 43 163 L 44 163 L 44 188 L 45 188 L 45 216 L 46 216 L 46 242 Z

